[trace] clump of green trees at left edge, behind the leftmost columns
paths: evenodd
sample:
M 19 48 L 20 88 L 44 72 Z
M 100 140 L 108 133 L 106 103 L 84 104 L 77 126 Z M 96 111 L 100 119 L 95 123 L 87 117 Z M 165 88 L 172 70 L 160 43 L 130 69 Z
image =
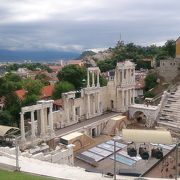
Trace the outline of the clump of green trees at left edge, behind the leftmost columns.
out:
M 4 97 L 4 111 L 0 114 L 0 123 L 9 126 L 16 123 L 19 126 L 21 107 L 36 104 L 42 87 L 43 84 L 39 80 L 30 78 L 22 80 L 16 74 L 9 73 L 0 78 L 0 97 Z M 21 89 L 27 91 L 24 100 L 19 99 L 14 93 Z

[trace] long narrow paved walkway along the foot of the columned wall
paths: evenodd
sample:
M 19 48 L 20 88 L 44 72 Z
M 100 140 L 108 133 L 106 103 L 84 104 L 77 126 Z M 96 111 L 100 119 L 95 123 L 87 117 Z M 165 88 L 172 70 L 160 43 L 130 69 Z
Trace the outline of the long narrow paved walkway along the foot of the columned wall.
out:
M 65 128 L 56 130 L 55 135 L 56 135 L 56 137 L 64 136 L 64 135 L 68 134 L 69 132 L 77 131 L 77 130 L 83 128 L 84 126 L 90 125 L 94 122 L 101 121 L 101 120 L 106 119 L 106 118 L 111 118 L 113 116 L 117 116 L 119 114 L 120 113 L 110 112 L 110 113 L 103 114 L 103 115 L 100 115 L 100 116 L 97 116 L 97 117 L 94 117 L 94 118 L 91 118 L 88 120 L 84 120 L 83 122 L 73 124 L 71 126 L 67 126 Z

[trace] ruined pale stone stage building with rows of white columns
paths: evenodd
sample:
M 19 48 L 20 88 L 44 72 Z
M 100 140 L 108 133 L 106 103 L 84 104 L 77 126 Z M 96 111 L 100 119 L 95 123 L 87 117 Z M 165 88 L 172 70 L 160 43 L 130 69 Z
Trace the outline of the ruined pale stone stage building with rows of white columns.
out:
M 36 142 L 54 137 L 54 129 L 61 129 L 93 117 L 106 111 L 125 112 L 134 104 L 135 64 L 130 61 L 117 63 L 114 81 L 100 87 L 98 67 L 87 69 L 87 87 L 80 92 L 71 91 L 62 94 L 62 109 L 52 111 L 53 100 L 38 101 L 36 105 L 21 109 L 21 142 Z M 92 83 L 90 82 L 92 74 Z M 80 96 L 77 96 L 77 94 Z M 24 114 L 31 113 L 31 131 L 25 133 Z M 35 123 L 35 115 L 37 123 Z M 105 122 L 96 123 L 101 134 Z M 90 133 L 92 135 L 92 132 Z

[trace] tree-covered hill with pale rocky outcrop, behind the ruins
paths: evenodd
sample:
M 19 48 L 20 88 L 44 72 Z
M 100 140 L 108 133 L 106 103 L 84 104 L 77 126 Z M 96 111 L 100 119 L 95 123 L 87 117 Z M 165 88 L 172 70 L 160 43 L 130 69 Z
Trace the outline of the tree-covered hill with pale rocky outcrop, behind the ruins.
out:
M 83 59 L 87 63 L 96 63 L 101 69 L 101 72 L 114 69 L 117 62 L 124 61 L 125 59 L 133 59 L 137 64 L 137 69 L 140 67 L 150 68 L 146 62 L 142 61 L 143 59 L 154 58 L 158 65 L 161 59 L 175 57 L 175 44 L 176 42 L 174 40 L 168 40 L 164 46 L 151 45 L 143 47 L 134 43 L 124 44 L 121 41 L 117 43 L 115 48 L 109 48 L 96 55 L 85 56 Z

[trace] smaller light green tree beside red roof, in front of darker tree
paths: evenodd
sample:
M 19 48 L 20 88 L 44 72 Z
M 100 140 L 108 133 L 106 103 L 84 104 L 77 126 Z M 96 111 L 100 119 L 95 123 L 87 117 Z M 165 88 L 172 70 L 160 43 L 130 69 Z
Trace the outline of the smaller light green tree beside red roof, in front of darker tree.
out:
M 68 91 L 74 91 L 75 87 L 72 83 L 67 81 L 61 81 L 55 84 L 54 86 L 54 92 L 52 94 L 53 99 L 60 99 L 62 93 L 68 92 Z

